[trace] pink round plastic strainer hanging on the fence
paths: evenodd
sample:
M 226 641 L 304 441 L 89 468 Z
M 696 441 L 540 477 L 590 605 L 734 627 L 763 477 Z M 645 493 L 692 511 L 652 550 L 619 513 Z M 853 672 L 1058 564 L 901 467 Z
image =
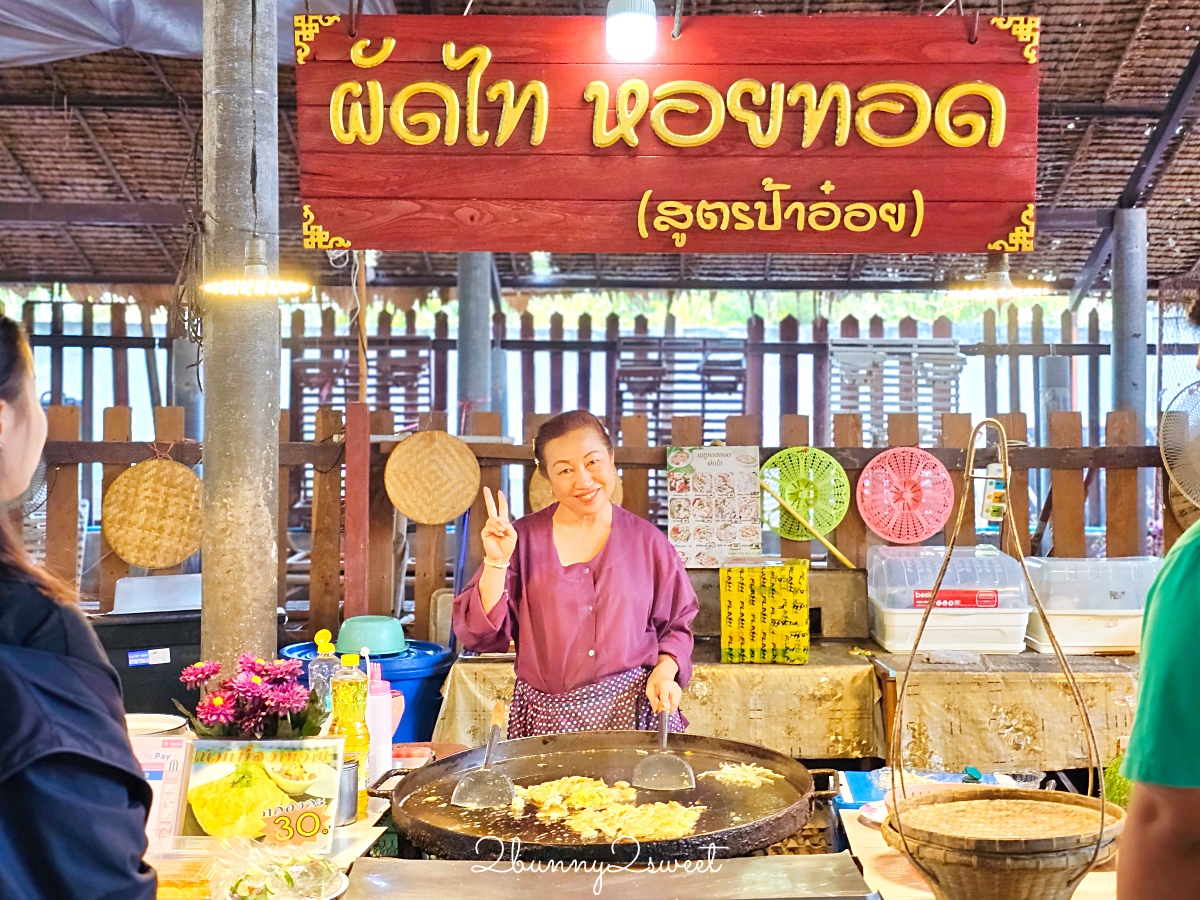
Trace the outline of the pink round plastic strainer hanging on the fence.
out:
M 919 544 L 942 530 L 954 505 L 954 485 L 936 456 L 896 446 L 871 460 L 858 476 L 858 512 L 893 544 Z

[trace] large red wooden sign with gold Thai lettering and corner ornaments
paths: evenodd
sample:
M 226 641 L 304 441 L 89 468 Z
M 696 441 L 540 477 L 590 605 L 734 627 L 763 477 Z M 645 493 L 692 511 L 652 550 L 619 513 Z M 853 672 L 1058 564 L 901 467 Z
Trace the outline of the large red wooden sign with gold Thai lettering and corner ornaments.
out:
M 296 17 L 305 246 L 1033 248 L 1038 19 Z

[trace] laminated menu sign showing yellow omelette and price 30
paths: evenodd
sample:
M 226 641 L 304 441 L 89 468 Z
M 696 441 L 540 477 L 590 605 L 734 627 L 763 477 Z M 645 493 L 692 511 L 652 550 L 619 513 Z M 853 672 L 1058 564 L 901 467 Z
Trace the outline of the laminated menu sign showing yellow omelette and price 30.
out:
M 342 746 L 341 738 L 193 742 L 184 834 L 328 850 Z

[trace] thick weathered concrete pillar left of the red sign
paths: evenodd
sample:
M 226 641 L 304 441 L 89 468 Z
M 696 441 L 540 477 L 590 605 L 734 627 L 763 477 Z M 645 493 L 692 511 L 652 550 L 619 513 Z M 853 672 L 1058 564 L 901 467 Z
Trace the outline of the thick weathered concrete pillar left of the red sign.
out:
M 276 0 L 204 4 L 205 277 L 241 275 L 256 232 L 278 264 L 276 22 Z M 208 300 L 204 392 L 200 644 L 228 666 L 276 650 L 277 302 Z

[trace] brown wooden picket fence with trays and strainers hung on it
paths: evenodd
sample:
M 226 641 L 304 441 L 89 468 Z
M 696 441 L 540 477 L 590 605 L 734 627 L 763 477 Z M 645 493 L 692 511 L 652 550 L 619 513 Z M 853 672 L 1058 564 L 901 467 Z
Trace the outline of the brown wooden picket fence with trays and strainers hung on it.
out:
M 376 412 L 372 430 L 380 427 L 390 413 Z M 49 498 L 46 505 L 47 515 L 47 568 L 68 580 L 77 580 L 77 546 L 80 466 L 102 464 L 104 486 L 126 467 L 156 455 L 167 455 L 185 464 L 200 462 L 203 446 L 194 442 L 180 440 L 182 428 L 182 410 L 178 408 L 160 409 L 156 415 L 156 443 L 134 443 L 130 440 L 130 409 L 115 407 L 104 410 L 104 440 L 91 442 L 80 439 L 80 419 L 77 407 L 54 407 L 49 410 L 50 433 L 46 446 L 48 466 Z M 528 488 L 533 473 L 532 434 L 542 416 L 530 416 L 526 421 L 527 440 L 522 444 L 509 443 L 473 443 L 473 451 L 479 458 L 482 484 L 499 488 L 505 480 L 514 481 L 515 490 Z M 1026 418 L 1022 413 L 1007 413 L 998 416 L 1004 424 L 1012 440 L 1024 439 L 1027 432 Z M 1105 473 L 1105 491 L 1108 494 L 1106 552 L 1109 556 L 1138 556 L 1145 550 L 1139 546 L 1136 508 L 1134 505 L 1138 469 L 1158 469 L 1160 461 L 1157 449 L 1140 446 L 1132 433 L 1133 416 L 1124 410 L 1109 413 L 1106 421 L 1108 445 L 1099 448 L 1082 446 L 1082 421 L 1079 413 L 1051 413 L 1051 446 L 1018 446 L 1012 451 L 1013 496 L 1026 496 L 1030 474 L 1037 469 L 1048 469 L 1054 491 L 1051 523 L 1054 526 L 1054 553 L 1056 556 L 1086 556 L 1084 536 L 1085 524 L 1085 473 L 1088 469 L 1103 469 Z M 948 414 L 942 421 L 942 445 L 929 448 L 950 470 L 956 490 L 972 490 L 971 481 L 965 479 L 964 444 L 970 434 L 972 418 L 966 413 Z M 424 414 L 419 422 L 424 428 L 444 428 L 443 413 Z M 342 512 L 342 456 L 341 445 L 335 437 L 343 430 L 342 413 L 331 407 L 323 407 L 316 418 L 317 439 L 312 442 L 289 440 L 290 426 L 287 410 L 281 415 L 280 444 L 280 560 L 281 594 L 280 601 L 288 604 L 289 618 L 298 625 L 298 640 L 311 636 L 319 628 L 335 629 L 340 617 L 342 600 L 342 551 L 341 535 L 343 530 Z M 834 416 L 832 445 L 823 449 L 847 470 L 852 482 L 864 466 L 881 450 L 864 448 L 862 440 L 862 416 L 840 414 Z M 892 446 L 913 445 L 917 443 L 917 418 L 912 413 L 892 414 L 887 422 L 888 444 Z M 476 413 L 466 420 L 466 431 L 480 437 L 497 436 L 499 416 L 494 413 Z M 806 445 L 812 440 L 808 416 L 787 414 L 781 420 L 784 444 L 788 446 Z M 617 466 L 623 473 L 624 505 L 630 511 L 648 517 L 652 515 L 650 478 L 661 470 L 666 463 L 666 445 L 650 445 L 646 438 L 646 416 L 625 416 L 620 421 L 622 442 L 616 449 Z M 726 421 L 725 440 L 737 445 L 758 445 L 762 436 L 762 419 L 756 415 L 730 416 Z M 695 415 L 678 415 L 671 420 L 670 443 L 674 445 L 696 445 L 704 439 L 703 420 Z M 388 614 L 394 612 L 396 586 L 392 581 L 392 536 L 396 514 L 386 500 L 383 490 L 384 446 L 376 445 L 371 455 L 371 527 L 370 527 L 370 577 L 368 612 Z M 762 448 L 762 458 L 767 458 L 778 448 Z M 980 451 L 977 460 L 984 464 L 995 458 L 994 450 Z M 308 592 L 307 596 L 289 599 L 286 592 L 289 540 L 286 523 L 290 504 L 287 486 L 295 478 L 295 472 L 311 470 L 313 484 L 311 539 L 308 554 Z M 1099 480 L 1096 480 L 1099 484 Z M 469 547 L 467 569 L 473 571 L 481 557 L 478 539 L 478 523 L 482 517 L 481 502 L 476 502 L 472 521 L 476 527 L 469 529 Z M 1166 521 L 1166 546 L 1177 538 L 1180 529 L 1174 523 L 1169 508 L 1164 510 Z M 1006 546 L 1009 553 L 1028 553 L 1030 521 L 1018 516 L 1020 534 L 1019 546 Z M 430 598 L 433 592 L 448 586 L 446 566 L 446 528 L 443 526 L 416 526 L 414 545 L 418 548 L 415 558 L 414 599 L 416 610 L 415 634 L 418 637 L 428 631 Z M 865 563 L 868 533 L 851 505 L 846 518 L 835 530 L 833 539 L 838 547 L 856 564 Z M 973 544 L 977 535 L 968 529 L 962 536 L 964 544 Z M 816 552 L 815 552 L 816 551 Z M 814 548 L 809 542 L 785 541 L 782 552 L 790 557 L 821 556 L 821 547 Z M 101 612 L 112 608 L 115 581 L 128 572 L 128 566 L 118 559 L 107 546 L 102 545 L 98 590 L 95 598 L 96 608 Z

